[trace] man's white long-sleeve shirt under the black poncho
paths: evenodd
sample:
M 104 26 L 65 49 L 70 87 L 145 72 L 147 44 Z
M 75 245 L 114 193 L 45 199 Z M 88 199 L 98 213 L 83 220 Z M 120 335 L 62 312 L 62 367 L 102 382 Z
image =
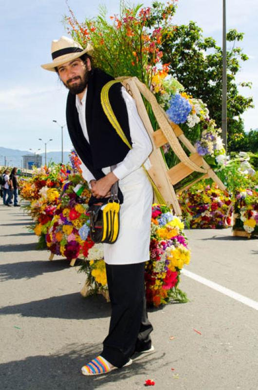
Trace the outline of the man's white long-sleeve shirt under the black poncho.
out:
M 144 124 L 139 117 L 136 104 L 134 99 L 129 95 L 127 90 L 122 87 L 122 96 L 126 102 L 128 119 L 129 119 L 129 130 L 132 141 L 132 149 L 129 150 L 128 154 L 124 158 L 123 161 L 117 164 L 116 168 L 113 170 L 114 175 L 118 179 L 122 179 L 128 176 L 131 172 L 140 168 L 140 166 L 144 163 L 145 167 L 149 169 L 150 162 L 148 160 L 148 156 L 152 151 L 152 144 L 147 134 L 147 131 L 144 127 Z M 86 97 L 87 97 L 87 89 L 86 92 L 80 100 L 80 98 L 76 95 L 76 108 L 79 115 L 80 125 L 82 127 L 82 131 L 84 137 L 89 142 L 89 136 L 86 126 Z M 114 129 L 115 131 L 115 129 Z M 107 168 L 103 168 L 102 171 L 106 174 Z M 91 180 L 95 180 L 95 177 L 89 171 L 89 169 L 85 166 L 84 163 L 81 163 L 82 176 L 85 180 L 90 183 Z

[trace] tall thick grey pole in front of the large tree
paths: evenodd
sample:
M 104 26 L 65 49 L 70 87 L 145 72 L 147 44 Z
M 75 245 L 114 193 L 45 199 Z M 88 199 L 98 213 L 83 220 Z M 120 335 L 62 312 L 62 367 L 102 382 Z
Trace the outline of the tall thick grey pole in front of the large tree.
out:
M 226 35 L 226 0 L 223 0 L 223 32 L 222 32 L 222 139 L 227 152 L 227 35 Z

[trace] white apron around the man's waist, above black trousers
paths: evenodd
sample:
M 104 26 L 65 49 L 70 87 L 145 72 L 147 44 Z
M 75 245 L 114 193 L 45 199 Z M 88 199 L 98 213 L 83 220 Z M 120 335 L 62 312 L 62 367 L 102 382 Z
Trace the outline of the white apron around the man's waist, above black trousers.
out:
M 124 195 L 119 235 L 114 244 L 104 244 L 104 260 L 112 265 L 142 263 L 149 260 L 152 186 L 141 167 L 119 180 L 119 187 Z

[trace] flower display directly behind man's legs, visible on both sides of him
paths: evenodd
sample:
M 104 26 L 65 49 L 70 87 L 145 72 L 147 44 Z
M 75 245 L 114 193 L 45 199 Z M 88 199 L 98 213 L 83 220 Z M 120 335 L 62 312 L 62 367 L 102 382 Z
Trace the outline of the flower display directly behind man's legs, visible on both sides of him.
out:
M 145 268 L 148 306 L 158 307 L 171 300 L 187 301 L 184 292 L 178 289 L 180 271 L 184 264 L 189 264 L 190 261 L 190 251 L 183 230 L 184 223 L 172 214 L 169 207 L 153 205 L 150 260 Z M 107 276 L 103 257 L 103 245 L 94 244 L 81 266 L 81 272 L 87 274 L 86 285 L 90 293 L 101 292 L 107 297 Z

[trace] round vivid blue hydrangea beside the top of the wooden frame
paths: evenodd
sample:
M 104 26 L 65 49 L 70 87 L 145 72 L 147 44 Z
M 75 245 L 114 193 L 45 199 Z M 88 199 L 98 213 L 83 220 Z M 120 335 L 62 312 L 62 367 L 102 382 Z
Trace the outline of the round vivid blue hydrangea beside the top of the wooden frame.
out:
M 176 124 L 186 122 L 188 115 L 192 111 L 189 101 L 177 93 L 170 99 L 169 104 L 170 107 L 166 111 L 169 119 Z

